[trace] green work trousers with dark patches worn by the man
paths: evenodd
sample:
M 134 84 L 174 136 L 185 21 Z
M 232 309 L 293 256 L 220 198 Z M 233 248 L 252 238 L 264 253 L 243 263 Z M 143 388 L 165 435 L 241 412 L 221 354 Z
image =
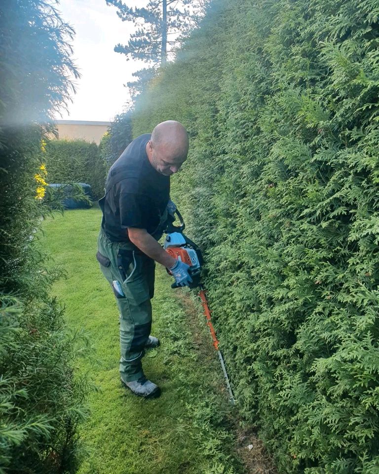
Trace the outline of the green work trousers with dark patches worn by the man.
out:
M 112 242 L 103 230 L 97 259 L 120 313 L 121 378 L 137 380 L 144 375 L 141 359 L 152 328 L 155 262 L 129 242 Z

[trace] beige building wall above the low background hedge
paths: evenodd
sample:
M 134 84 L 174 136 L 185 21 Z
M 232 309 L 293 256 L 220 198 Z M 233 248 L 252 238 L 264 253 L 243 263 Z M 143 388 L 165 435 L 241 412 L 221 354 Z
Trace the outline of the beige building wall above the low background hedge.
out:
M 99 145 L 104 133 L 111 126 L 111 122 L 95 122 L 85 120 L 56 120 L 58 138 L 75 140 L 81 138 L 87 142 Z

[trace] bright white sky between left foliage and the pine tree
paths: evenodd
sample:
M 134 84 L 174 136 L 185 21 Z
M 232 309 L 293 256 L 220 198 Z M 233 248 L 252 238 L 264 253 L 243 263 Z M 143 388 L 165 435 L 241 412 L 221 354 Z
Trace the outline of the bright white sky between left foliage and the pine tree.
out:
M 129 99 L 123 84 L 143 67 L 113 50 L 118 42 L 127 42 L 133 23 L 121 21 L 117 9 L 105 0 L 60 0 L 57 8 L 76 31 L 73 58 L 81 79 L 76 81 L 69 114 L 56 118 L 111 121 Z

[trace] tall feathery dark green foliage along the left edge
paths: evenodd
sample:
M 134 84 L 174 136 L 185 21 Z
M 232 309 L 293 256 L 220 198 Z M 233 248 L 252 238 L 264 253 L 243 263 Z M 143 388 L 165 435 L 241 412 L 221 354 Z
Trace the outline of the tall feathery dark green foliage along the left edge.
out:
M 82 335 L 69 334 L 50 296 L 36 232 L 48 208 L 35 175 L 42 137 L 77 76 L 73 31 L 42 1 L 0 6 L 0 473 L 73 473 L 86 383 L 73 373 Z

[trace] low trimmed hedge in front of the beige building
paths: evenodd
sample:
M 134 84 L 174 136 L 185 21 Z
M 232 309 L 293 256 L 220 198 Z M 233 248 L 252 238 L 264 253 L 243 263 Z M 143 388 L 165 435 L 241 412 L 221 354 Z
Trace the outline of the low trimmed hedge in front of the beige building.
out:
M 50 140 L 45 157 L 49 184 L 88 183 L 94 199 L 103 196 L 106 167 L 96 143 Z

